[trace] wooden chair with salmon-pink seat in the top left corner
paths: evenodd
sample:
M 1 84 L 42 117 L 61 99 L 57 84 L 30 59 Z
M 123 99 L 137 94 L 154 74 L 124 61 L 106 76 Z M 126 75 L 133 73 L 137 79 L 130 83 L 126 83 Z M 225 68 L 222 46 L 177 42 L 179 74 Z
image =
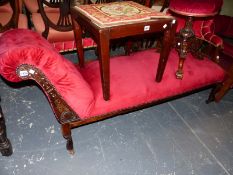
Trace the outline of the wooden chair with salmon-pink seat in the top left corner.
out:
M 27 18 L 22 14 L 22 1 L 0 1 L 0 33 L 11 28 L 28 28 Z

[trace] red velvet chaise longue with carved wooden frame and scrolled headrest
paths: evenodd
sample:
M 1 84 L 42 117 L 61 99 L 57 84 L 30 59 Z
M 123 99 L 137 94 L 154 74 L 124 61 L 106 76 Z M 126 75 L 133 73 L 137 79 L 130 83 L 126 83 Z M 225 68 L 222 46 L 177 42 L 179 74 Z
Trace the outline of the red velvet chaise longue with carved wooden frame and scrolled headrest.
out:
M 61 124 L 70 153 L 74 153 L 74 127 L 162 103 L 223 81 L 225 72 L 219 65 L 207 58 L 188 57 L 185 76 L 178 80 L 175 72 L 179 57 L 171 50 L 159 83 L 155 81 L 159 62 L 155 49 L 112 57 L 110 100 L 105 101 L 98 60 L 80 68 L 39 34 L 27 29 L 9 30 L 0 37 L 1 76 L 15 83 L 32 79 L 41 87 Z M 3 153 L 3 149 L 0 151 Z

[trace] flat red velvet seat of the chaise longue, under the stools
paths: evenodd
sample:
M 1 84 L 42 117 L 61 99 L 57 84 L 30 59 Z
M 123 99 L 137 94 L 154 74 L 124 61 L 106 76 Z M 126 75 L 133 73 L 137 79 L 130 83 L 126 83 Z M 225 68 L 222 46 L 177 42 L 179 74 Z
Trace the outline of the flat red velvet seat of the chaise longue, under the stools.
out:
M 95 106 L 89 117 L 182 94 L 219 82 L 225 75 L 212 61 L 197 60 L 188 55 L 184 66 L 184 78 L 178 80 L 175 72 L 179 59 L 177 52 L 172 50 L 162 82 L 157 83 L 155 75 L 158 60 L 159 54 L 154 50 L 111 58 L 110 101 L 103 100 L 98 61 L 91 62 L 85 69 L 80 70 L 95 96 Z

